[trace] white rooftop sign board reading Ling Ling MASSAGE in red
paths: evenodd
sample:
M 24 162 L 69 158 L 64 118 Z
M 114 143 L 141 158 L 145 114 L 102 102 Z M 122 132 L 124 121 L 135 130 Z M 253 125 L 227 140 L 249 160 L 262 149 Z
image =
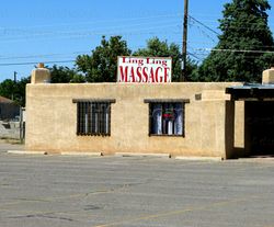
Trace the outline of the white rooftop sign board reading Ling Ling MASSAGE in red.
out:
M 118 57 L 117 82 L 171 82 L 172 59 L 161 57 Z

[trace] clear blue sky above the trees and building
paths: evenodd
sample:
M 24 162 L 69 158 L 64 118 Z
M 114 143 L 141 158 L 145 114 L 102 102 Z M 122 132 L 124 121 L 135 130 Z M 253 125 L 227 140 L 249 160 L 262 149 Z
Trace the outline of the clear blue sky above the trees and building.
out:
M 189 52 L 202 60 L 217 43 L 224 3 L 190 0 Z M 274 0 L 269 1 L 274 8 Z M 158 36 L 182 46 L 184 0 L 10 0 L 0 8 L 0 81 L 16 71 L 26 77 L 33 63 L 72 67 L 79 54 L 100 45 L 102 35 L 122 35 L 133 50 Z M 269 11 L 274 31 L 274 10 Z M 195 20 L 194 20 L 195 19 Z M 64 61 L 64 63 L 60 63 Z M 65 63 L 68 61 L 68 63 Z M 22 65 L 13 65 L 22 64 Z M 25 65 L 27 64 L 27 65 Z M 52 66 L 53 64 L 47 64 Z

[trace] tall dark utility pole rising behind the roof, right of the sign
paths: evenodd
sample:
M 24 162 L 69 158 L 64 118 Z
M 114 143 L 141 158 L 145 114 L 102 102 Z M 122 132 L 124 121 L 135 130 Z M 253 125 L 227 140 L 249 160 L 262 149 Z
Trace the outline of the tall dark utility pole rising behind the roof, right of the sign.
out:
M 189 0 L 184 0 L 184 24 L 183 24 L 183 49 L 182 49 L 182 75 L 180 81 L 186 81 L 186 45 L 187 45 Z

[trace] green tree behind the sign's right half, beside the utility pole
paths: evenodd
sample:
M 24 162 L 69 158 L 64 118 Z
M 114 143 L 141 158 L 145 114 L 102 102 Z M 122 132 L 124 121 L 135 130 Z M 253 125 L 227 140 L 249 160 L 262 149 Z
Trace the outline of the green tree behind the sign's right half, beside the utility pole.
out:
M 146 48 L 138 49 L 134 53 L 134 56 L 172 57 L 172 81 L 179 81 L 180 75 L 182 73 L 182 54 L 179 45 L 174 43 L 169 45 L 167 41 L 160 41 L 158 37 L 153 37 L 147 42 Z M 186 75 L 190 76 L 189 79 L 191 79 L 191 75 L 196 67 L 196 63 L 189 58 L 186 64 Z

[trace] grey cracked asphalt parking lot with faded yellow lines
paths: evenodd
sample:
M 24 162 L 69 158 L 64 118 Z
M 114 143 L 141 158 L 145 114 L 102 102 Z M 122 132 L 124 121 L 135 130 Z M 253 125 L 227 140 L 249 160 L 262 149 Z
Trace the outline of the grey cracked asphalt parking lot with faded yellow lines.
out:
M 273 227 L 274 161 L 0 152 L 1 227 Z

